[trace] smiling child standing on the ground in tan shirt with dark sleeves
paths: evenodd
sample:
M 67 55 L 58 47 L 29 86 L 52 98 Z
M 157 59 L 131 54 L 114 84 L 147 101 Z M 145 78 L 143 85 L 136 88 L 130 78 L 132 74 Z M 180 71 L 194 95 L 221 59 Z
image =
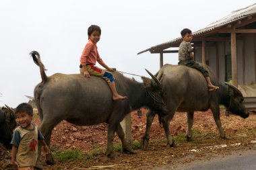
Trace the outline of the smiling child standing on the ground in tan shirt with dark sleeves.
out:
M 13 132 L 11 144 L 11 162 L 18 170 L 33 170 L 38 157 L 38 142 L 42 143 L 45 153 L 50 150 L 44 142 L 44 136 L 36 124 L 32 124 L 33 108 L 28 103 L 21 103 L 15 109 L 16 122 L 20 124 Z

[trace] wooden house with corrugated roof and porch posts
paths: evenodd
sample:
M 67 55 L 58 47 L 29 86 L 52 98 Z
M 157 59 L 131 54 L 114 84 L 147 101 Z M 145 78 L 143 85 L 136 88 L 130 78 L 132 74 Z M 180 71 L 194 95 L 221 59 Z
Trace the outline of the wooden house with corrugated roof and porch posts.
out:
M 181 41 L 182 38 L 179 37 L 142 50 L 138 54 L 147 51 L 159 53 L 162 67 L 164 55 L 178 53 L 177 47 Z M 193 32 L 191 44 L 195 60 L 209 65 L 220 81 L 232 80 L 236 87 L 255 84 L 256 3 L 232 11 L 230 15 Z

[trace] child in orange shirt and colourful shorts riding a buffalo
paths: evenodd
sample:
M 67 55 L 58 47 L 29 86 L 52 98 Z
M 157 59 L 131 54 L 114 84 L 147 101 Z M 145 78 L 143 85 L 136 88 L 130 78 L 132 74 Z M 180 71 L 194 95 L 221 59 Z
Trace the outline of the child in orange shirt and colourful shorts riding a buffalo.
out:
M 102 77 L 108 83 L 112 91 L 113 100 L 127 99 L 126 96 L 122 96 L 122 95 L 119 95 L 119 93 L 117 93 L 113 75 L 95 66 L 96 61 L 98 61 L 98 63 L 108 71 L 116 70 L 115 68 L 108 67 L 103 62 L 102 58 L 100 58 L 100 55 L 98 54 L 96 44 L 100 40 L 100 35 L 101 35 L 101 30 L 99 26 L 92 25 L 88 28 L 89 40 L 80 58 L 80 73 L 87 78 L 89 78 L 90 75 L 96 75 L 98 77 Z

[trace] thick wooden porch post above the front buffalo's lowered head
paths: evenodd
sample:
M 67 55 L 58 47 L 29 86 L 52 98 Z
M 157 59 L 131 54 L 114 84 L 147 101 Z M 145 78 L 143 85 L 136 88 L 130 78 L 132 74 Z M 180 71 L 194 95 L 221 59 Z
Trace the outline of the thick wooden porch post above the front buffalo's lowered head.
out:
M 236 65 L 236 32 L 231 32 L 231 64 L 232 64 L 232 84 L 237 87 L 237 65 Z

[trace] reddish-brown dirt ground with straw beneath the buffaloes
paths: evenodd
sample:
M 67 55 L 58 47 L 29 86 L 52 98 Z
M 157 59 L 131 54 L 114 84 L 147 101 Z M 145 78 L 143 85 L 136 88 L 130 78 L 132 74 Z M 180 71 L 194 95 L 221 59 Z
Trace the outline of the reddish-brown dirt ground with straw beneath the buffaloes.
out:
M 145 132 L 146 112 L 147 110 L 142 110 L 141 117 L 137 116 L 137 112 L 131 113 L 133 142 L 138 143 Z M 34 122 L 40 124 L 38 118 L 35 118 Z M 42 157 L 42 163 L 44 169 L 156 169 L 161 166 L 175 169 L 195 160 L 224 157 L 238 150 L 255 149 L 255 113 L 243 119 L 234 115 L 227 117 L 222 111 L 221 122 L 227 136 L 230 137 L 229 140 L 219 138 L 212 112 L 195 112 L 193 124 L 195 139 L 193 142 L 187 142 L 184 138 L 178 138 L 187 129 L 186 114 L 177 112 L 170 122 L 171 133 L 174 138 L 177 137 L 177 147 L 170 148 L 166 144 L 164 130 L 156 116 L 150 130 L 149 147 L 146 150 L 135 148 L 135 155 L 117 151 L 115 159 L 107 159 L 102 153 L 85 161 L 57 161 L 52 166 L 46 165 Z M 51 148 L 60 151 L 79 149 L 84 153 L 90 153 L 95 148 L 105 149 L 106 130 L 107 124 L 74 126 L 63 121 L 53 130 Z M 117 135 L 114 142 L 120 143 Z M 3 167 L 6 160 L 10 159 L 10 151 L 5 150 L 3 146 L 0 146 L 0 149 L 0 165 Z

